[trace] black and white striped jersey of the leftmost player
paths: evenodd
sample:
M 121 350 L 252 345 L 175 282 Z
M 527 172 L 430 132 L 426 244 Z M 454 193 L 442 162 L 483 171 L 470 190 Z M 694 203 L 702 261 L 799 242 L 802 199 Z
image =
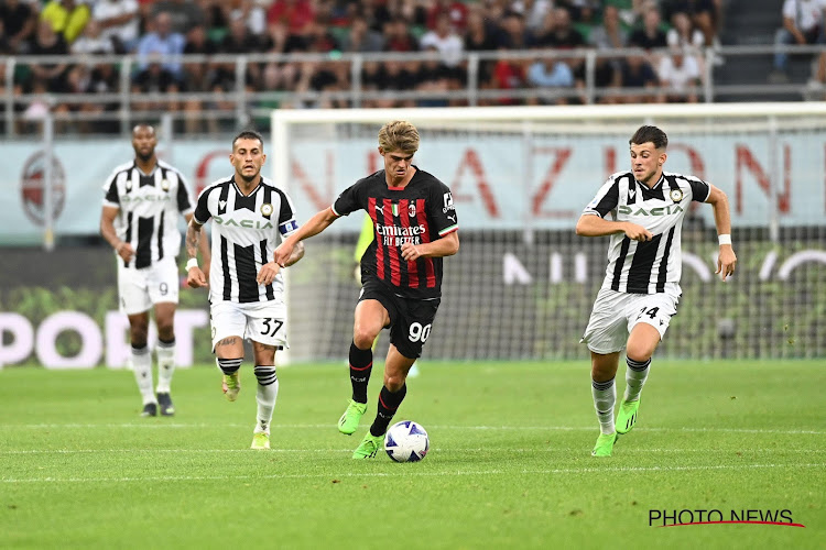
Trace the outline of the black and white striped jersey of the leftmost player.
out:
M 193 211 L 184 176 L 170 164 L 157 161 L 144 174 L 134 161 L 121 164 L 104 185 L 104 206 L 120 209 L 115 219 L 118 237 L 132 245 L 135 254 L 123 265 L 143 268 L 175 257 L 181 250 L 178 212 Z

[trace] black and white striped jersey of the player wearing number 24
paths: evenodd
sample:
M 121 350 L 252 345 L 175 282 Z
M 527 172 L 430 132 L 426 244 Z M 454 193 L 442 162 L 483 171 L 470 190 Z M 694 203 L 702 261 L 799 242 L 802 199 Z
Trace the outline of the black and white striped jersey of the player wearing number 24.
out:
M 654 237 L 640 242 L 624 233 L 610 235 L 602 288 L 629 294 L 680 294 L 683 219 L 692 200 L 705 202 L 710 193 L 710 186 L 702 179 L 670 172 L 664 172 L 653 188 L 637 182 L 631 172 L 611 175 L 583 213 L 630 221 Z

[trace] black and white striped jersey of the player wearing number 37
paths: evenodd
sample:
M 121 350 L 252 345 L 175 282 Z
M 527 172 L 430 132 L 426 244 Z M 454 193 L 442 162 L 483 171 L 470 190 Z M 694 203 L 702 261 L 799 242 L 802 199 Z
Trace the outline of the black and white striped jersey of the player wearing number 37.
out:
M 195 221 L 213 219 L 213 262 L 209 266 L 209 301 L 249 304 L 275 299 L 284 292 L 281 272 L 269 285 L 256 280 L 259 270 L 272 261 L 281 239 L 298 223 L 290 197 L 262 177 L 244 195 L 235 176 L 210 184 L 198 196 Z

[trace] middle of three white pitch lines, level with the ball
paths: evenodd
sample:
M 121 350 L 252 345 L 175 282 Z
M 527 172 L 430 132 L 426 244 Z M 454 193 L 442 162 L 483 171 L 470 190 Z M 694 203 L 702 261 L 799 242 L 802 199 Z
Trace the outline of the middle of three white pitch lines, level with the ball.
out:
M 450 448 L 433 448 L 432 451 L 441 453 L 467 453 L 467 452 L 503 452 L 503 453 L 545 453 L 545 452 L 564 452 L 564 453 L 579 453 L 583 452 L 584 448 L 546 448 L 546 449 L 491 449 L 491 448 L 472 448 L 472 449 L 459 449 L 455 447 Z M 319 452 L 351 452 L 350 448 L 343 449 L 270 449 L 269 452 L 283 452 L 283 453 L 313 453 L 318 454 Z M 251 449 L 24 449 L 15 451 L 0 451 L 0 455 L 3 454 L 93 454 L 93 453 L 112 453 L 112 454 L 139 454 L 139 453 L 171 453 L 171 454 L 198 454 L 198 453 L 249 453 L 258 454 Z M 623 454 L 628 453 L 718 453 L 718 454 L 730 454 L 730 453 L 765 453 L 765 454 L 782 454 L 782 453 L 826 453 L 826 449 L 749 449 L 742 451 L 741 449 L 622 449 Z

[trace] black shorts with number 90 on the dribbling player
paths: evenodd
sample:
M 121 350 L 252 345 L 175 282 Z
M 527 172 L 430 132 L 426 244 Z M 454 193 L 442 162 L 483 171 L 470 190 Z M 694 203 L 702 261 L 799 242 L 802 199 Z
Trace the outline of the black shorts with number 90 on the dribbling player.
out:
M 378 300 L 390 315 L 390 343 L 409 359 L 422 356 L 424 342 L 431 336 L 441 298 L 431 300 L 403 298 L 377 280 L 368 279 L 359 301 Z

